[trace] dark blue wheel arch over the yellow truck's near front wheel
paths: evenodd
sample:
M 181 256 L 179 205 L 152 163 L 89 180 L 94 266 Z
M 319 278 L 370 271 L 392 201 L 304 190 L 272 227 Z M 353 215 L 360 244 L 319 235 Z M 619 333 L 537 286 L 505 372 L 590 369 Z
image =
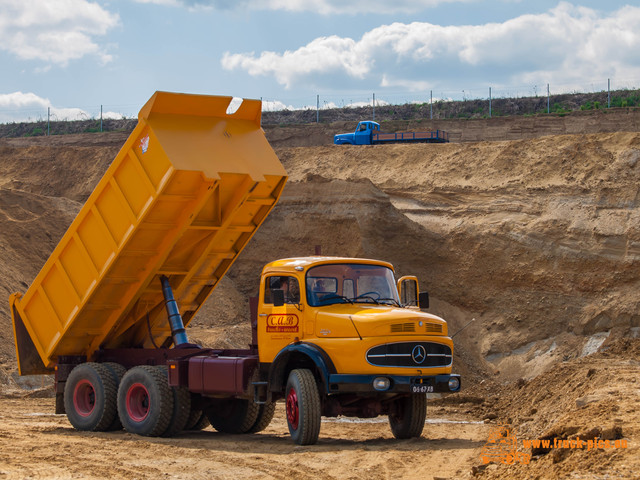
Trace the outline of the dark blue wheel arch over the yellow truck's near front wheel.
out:
M 269 368 L 269 388 L 284 392 L 291 370 L 307 368 L 318 381 L 321 392 L 329 392 L 329 375 L 336 373 L 331 358 L 322 348 L 310 343 L 296 343 L 283 348 Z

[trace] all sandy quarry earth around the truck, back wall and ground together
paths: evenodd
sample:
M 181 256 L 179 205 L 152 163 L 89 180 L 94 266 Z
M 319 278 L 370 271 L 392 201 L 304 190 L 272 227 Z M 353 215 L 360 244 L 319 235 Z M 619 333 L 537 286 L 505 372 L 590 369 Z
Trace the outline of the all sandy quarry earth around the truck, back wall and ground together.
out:
M 274 142 L 289 183 L 190 338 L 246 345 L 246 298 L 268 261 L 315 245 L 388 260 L 398 276 L 418 276 L 451 332 L 475 319 L 455 337 L 463 391 L 430 400 L 423 438 L 393 440 L 384 418 L 324 419 L 318 445 L 296 447 L 282 406 L 256 435 L 75 432 L 53 414 L 50 378 L 17 375 L 3 308 L 0 480 L 640 478 L 640 133 L 635 120 L 629 131 L 573 128 L 509 141 L 337 147 L 300 146 L 301 127 Z M 28 288 L 125 138 L 0 140 L 6 297 Z M 499 428 L 529 463 L 483 464 Z M 524 443 L 577 438 L 620 448 Z

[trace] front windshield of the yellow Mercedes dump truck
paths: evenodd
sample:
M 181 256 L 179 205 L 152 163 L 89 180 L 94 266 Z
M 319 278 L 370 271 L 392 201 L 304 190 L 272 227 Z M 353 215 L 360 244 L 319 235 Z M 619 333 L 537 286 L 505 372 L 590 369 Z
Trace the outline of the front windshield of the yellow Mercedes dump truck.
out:
M 393 272 L 380 265 L 319 265 L 306 277 L 307 302 L 313 307 L 333 303 L 398 305 Z

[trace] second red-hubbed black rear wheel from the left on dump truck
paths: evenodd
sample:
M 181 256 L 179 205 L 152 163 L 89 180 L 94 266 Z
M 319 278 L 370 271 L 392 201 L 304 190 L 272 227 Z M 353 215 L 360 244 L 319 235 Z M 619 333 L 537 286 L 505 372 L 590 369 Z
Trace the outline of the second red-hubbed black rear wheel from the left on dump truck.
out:
M 173 417 L 173 391 L 166 370 L 147 365 L 129 370 L 118 389 L 118 414 L 129 433 L 162 435 Z

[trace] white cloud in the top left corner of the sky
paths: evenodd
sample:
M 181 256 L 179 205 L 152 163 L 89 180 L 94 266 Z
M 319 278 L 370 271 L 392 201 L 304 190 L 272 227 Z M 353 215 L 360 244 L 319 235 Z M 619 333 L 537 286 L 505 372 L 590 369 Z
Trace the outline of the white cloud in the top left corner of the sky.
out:
M 0 49 L 23 60 L 62 66 L 86 55 L 106 63 L 112 56 L 94 37 L 118 23 L 117 14 L 87 0 L 2 0 Z

